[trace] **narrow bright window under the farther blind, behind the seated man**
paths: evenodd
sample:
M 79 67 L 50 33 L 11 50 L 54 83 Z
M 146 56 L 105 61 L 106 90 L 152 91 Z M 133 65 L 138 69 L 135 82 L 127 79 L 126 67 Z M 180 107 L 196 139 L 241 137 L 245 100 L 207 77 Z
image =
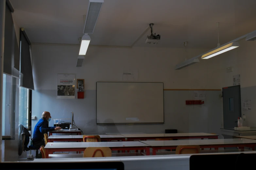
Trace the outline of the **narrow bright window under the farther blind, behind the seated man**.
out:
M 30 93 L 31 90 L 20 87 L 19 92 L 19 124 L 22 124 L 27 129 L 31 125 L 31 111 L 30 111 Z

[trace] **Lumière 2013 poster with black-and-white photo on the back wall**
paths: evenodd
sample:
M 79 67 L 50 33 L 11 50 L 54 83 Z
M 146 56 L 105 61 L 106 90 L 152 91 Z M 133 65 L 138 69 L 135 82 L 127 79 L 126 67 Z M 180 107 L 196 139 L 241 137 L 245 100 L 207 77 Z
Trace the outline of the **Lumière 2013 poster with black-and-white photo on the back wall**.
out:
M 57 98 L 75 99 L 75 84 L 74 74 L 58 74 Z

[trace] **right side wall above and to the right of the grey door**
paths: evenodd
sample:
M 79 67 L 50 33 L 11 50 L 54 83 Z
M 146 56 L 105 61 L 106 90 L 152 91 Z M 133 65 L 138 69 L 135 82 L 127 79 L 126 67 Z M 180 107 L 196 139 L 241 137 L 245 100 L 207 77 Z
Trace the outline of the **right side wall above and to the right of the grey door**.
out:
M 238 41 L 240 47 L 209 59 L 216 67 L 213 72 L 219 75 L 219 88 L 233 86 L 233 76 L 240 74 L 241 100 L 251 100 L 251 111 L 244 111 L 244 126 L 256 127 L 256 41 Z M 232 72 L 226 68 L 233 67 Z M 241 102 L 241 105 L 243 103 Z

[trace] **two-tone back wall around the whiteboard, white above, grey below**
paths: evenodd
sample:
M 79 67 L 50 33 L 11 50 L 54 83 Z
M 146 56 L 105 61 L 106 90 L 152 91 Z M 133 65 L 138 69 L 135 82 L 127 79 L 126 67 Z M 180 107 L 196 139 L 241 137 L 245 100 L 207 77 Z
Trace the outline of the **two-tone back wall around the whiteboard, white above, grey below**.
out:
M 164 124 L 96 125 L 96 82 L 122 81 L 124 69 L 138 69 L 138 82 L 163 82 L 164 89 L 219 87 L 219 82 L 209 77 L 212 66 L 205 61 L 174 70 L 176 64 L 184 61 L 185 55 L 190 58 L 208 49 L 187 49 L 185 54 L 184 48 L 89 46 L 82 67 L 76 67 L 78 45 L 32 44 L 32 49 L 35 85 L 32 116 L 37 117 L 32 120 L 32 127 L 43 111 L 49 111 L 52 119 L 69 118 L 73 111 L 76 125 L 84 134 L 164 133 L 165 129 L 178 129 L 179 133 L 218 133 L 221 127 L 220 91 L 207 92 L 207 102 L 202 106 L 185 105 L 185 100 L 194 99 L 193 91 L 164 91 Z M 57 74 L 76 74 L 76 78 L 85 79 L 85 98 L 57 99 Z M 52 126 L 53 121 L 49 125 Z

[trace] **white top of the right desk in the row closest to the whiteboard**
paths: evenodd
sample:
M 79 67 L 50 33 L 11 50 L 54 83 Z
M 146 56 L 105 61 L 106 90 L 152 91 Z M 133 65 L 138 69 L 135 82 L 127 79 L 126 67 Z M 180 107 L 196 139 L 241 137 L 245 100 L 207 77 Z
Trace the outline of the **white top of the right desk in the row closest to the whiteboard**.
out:
M 122 134 L 125 137 L 181 137 L 181 136 L 218 136 L 207 133 L 178 133 L 178 134 Z

